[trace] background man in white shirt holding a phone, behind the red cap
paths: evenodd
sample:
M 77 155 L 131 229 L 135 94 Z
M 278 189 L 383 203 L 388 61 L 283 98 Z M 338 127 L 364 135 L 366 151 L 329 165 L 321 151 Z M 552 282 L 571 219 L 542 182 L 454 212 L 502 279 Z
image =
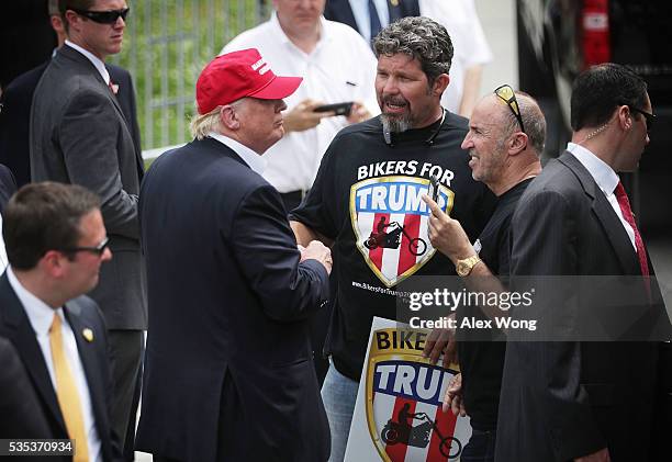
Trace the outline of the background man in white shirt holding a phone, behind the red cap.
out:
M 376 58 L 352 29 L 325 20 L 325 0 L 273 0 L 269 21 L 249 30 L 222 50 L 257 48 L 280 75 L 303 76 L 285 99 L 284 137 L 264 156 L 264 178 L 282 195 L 288 212 L 313 184 L 322 156 L 336 133 L 380 112 L 373 81 Z M 349 116 L 314 112 L 323 104 L 352 101 Z

